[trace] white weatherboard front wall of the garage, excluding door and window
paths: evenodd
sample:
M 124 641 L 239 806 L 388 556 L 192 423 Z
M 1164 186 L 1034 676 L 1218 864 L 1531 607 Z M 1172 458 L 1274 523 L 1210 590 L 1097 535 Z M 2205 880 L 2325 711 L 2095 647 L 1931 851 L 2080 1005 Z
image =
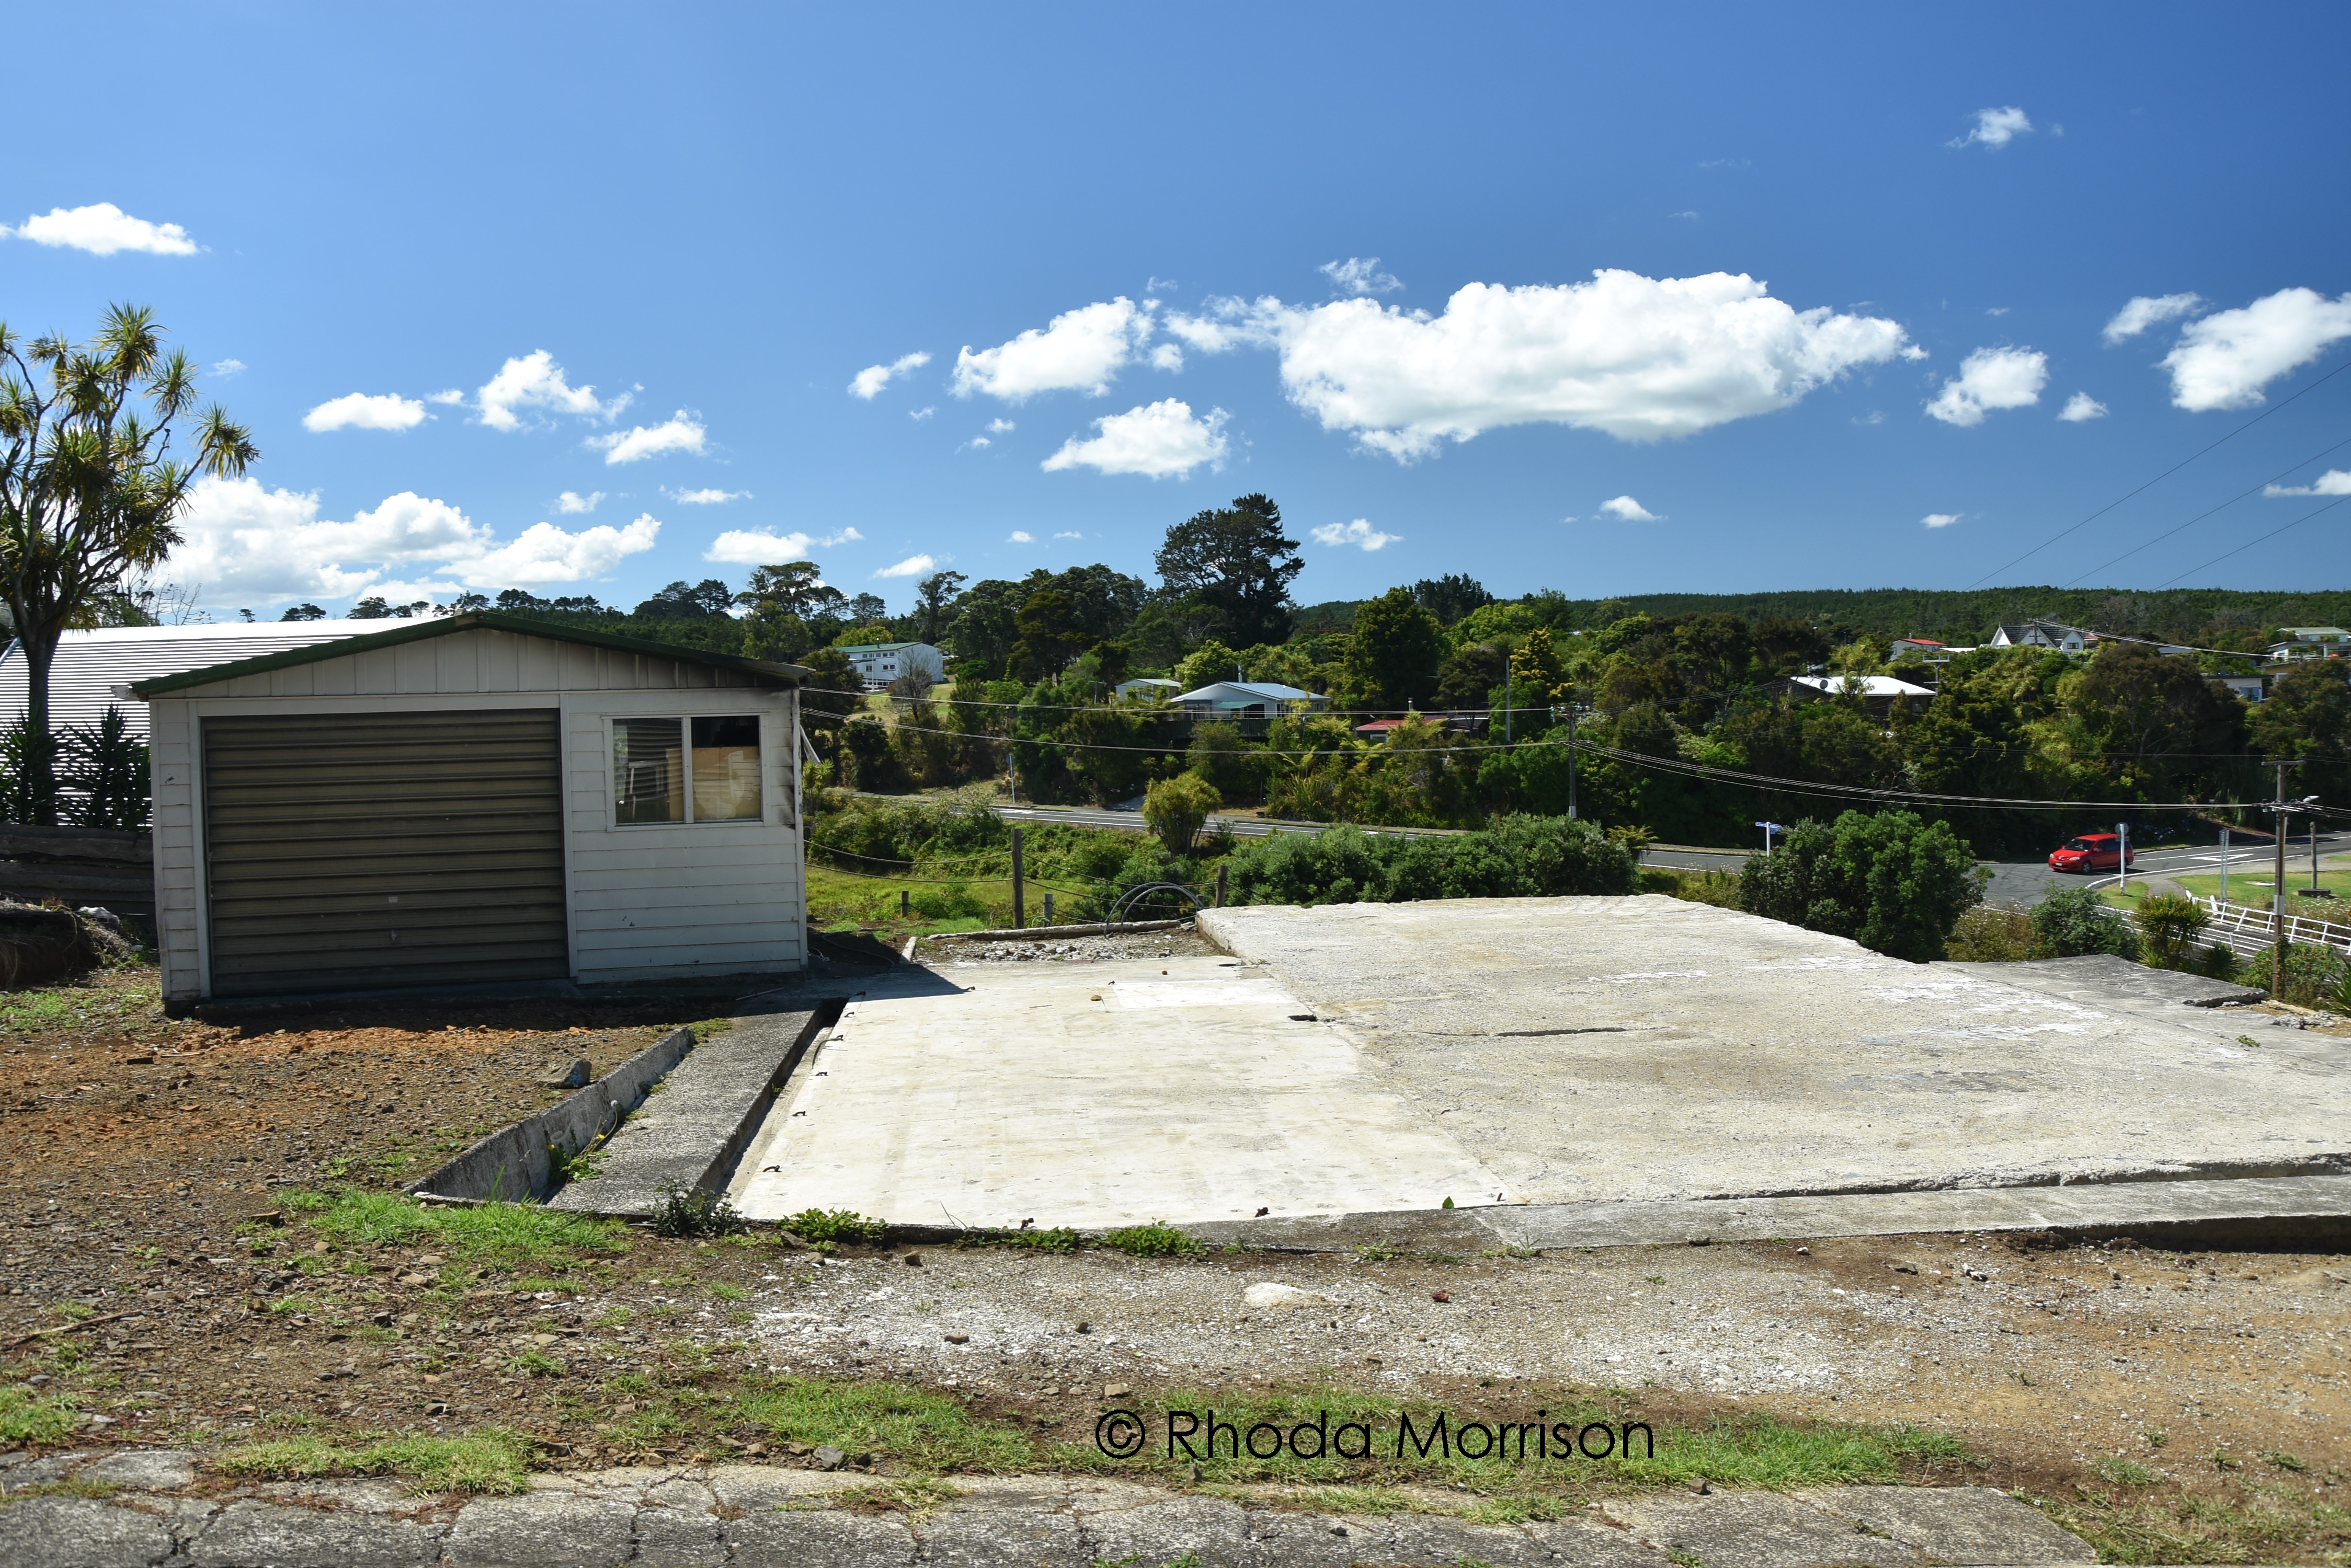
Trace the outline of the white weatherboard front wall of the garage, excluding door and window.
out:
M 165 999 L 209 994 L 200 722 L 207 717 L 555 708 L 574 980 L 797 971 L 806 879 L 799 693 L 684 658 L 477 628 L 188 686 L 150 701 L 155 929 Z M 757 715 L 762 820 L 621 827 L 611 719 Z

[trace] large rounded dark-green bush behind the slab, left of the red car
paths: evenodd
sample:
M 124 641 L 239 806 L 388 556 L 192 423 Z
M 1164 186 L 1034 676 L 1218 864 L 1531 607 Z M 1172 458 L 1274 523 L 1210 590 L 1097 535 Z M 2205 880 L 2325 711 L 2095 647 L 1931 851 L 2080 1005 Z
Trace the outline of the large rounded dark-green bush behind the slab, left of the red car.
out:
M 1982 886 L 1975 856 L 1949 823 L 1914 811 L 1846 811 L 1831 825 L 1796 823 L 1777 853 L 1751 858 L 1740 872 L 1740 907 L 1925 964 L 1944 957 Z

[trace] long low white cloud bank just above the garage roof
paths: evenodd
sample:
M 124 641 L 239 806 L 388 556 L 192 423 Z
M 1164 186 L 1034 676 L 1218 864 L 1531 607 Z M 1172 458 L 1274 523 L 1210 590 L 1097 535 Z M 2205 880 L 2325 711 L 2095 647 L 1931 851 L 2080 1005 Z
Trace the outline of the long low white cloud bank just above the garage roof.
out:
M 176 527 L 172 576 L 207 604 L 341 599 L 435 576 L 468 588 L 574 583 L 651 550 L 661 531 L 654 517 L 583 534 L 541 522 L 501 545 L 458 508 L 414 491 L 336 522 L 317 515 L 317 494 L 263 489 L 252 477 L 200 480 Z M 428 592 L 442 588 L 426 583 Z

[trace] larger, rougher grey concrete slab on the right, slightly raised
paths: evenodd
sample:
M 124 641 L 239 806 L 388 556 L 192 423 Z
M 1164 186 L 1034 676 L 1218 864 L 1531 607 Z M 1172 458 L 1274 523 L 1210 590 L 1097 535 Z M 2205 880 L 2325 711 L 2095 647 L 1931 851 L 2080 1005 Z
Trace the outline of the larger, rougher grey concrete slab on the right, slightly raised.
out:
M 2342 1041 L 2245 1048 L 1733 910 L 1476 898 L 1199 929 L 1338 1020 L 1521 1204 L 2351 1166 Z

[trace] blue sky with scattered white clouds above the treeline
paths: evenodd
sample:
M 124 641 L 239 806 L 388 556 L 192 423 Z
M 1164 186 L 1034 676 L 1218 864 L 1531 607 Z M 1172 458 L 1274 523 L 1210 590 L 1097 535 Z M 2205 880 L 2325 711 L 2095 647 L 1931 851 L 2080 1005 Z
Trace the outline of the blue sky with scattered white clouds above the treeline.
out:
M 42 7 L 0 320 L 153 306 L 214 614 L 2351 578 L 2351 12 Z M 78 71 L 82 61 L 87 71 Z M 2215 444 L 2217 442 L 2217 444 Z M 2177 473 L 2168 473 L 2175 470 Z M 2118 503 L 2118 505 L 2116 505 Z

